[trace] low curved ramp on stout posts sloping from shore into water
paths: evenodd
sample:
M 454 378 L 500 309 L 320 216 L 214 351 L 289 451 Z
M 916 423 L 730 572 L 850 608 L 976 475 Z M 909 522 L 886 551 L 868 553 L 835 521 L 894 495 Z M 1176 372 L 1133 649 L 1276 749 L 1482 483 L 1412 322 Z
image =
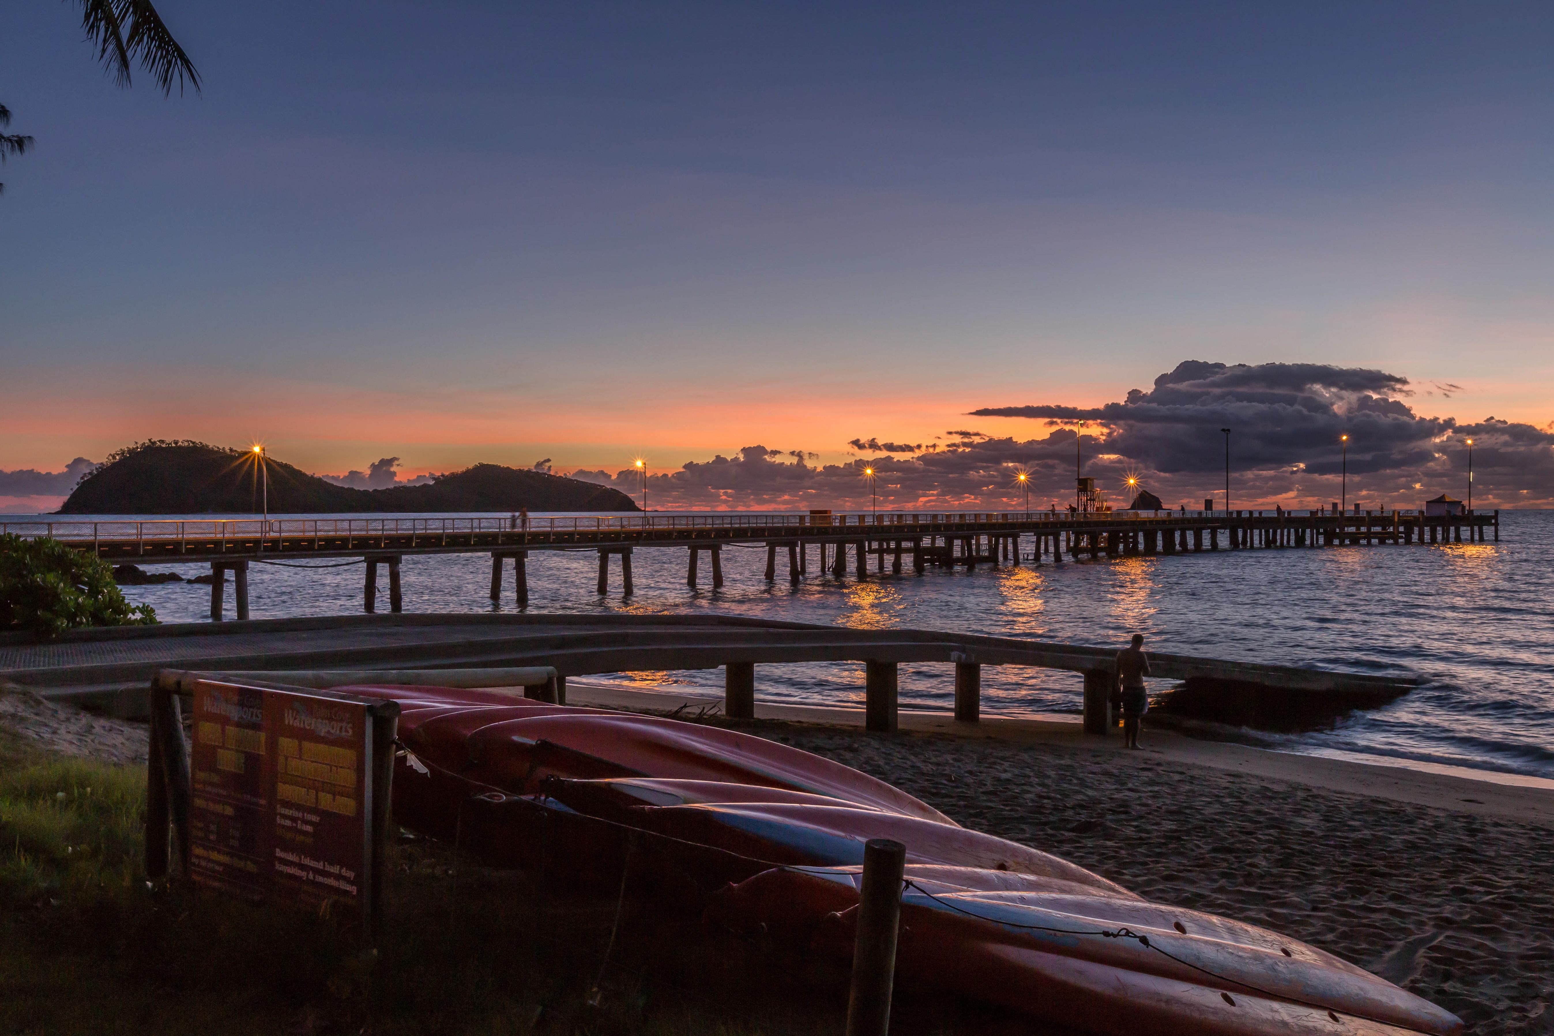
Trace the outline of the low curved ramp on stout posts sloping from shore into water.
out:
M 733 615 L 381 615 L 182 623 L 70 631 L 31 643 L 0 634 L 0 679 L 44 694 L 143 714 L 162 669 L 351 671 L 552 666 L 549 693 L 566 704 L 566 677 L 665 669 L 724 669 L 724 713 L 755 714 L 758 668 L 864 663 L 869 730 L 897 728 L 903 663 L 953 666 L 954 718 L 977 722 L 984 666 L 1066 669 L 1082 677 L 1086 733 L 1116 728 L 1116 651 L 1082 645 L 920 629 L 850 629 Z M 1277 699 L 1333 711 L 1406 694 L 1413 677 L 1333 673 L 1150 652 L 1152 677 L 1240 702 Z M 948 674 L 946 674 L 948 676 Z M 460 673 L 468 685 L 468 673 Z M 493 676 L 499 680 L 499 676 Z

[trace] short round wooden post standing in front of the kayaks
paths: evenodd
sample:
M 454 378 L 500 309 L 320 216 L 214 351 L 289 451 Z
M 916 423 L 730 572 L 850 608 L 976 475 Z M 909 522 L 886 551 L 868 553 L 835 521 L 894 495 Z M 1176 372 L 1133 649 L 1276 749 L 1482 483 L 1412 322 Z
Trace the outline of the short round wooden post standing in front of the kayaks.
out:
M 862 888 L 853 982 L 847 996 L 847 1036 L 887 1036 L 895 988 L 895 941 L 901 929 L 901 879 L 906 847 L 890 839 L 864 842 Z

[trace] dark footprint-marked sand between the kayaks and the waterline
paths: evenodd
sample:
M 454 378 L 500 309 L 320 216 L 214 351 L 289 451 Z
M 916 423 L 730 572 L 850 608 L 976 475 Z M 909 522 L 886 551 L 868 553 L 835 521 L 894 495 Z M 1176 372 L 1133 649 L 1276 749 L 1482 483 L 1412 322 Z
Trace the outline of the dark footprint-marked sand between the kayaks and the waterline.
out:
M 698 707 L 575 682 L 569 702 Z M 1545 787 L 1166 732 L 1124 752 L 1120 738 L 1097 746 L 1072 722 L 990 718 L 968 728 L 903 713 L 903 733 L 869 735 L 855 710 L 758 705 L 758 714 L 771 718 L 741 728 L 1150 899 L 1288 932 L 1441 1003 L 1472 1033 L 1554 1033 L 1554 792 Z

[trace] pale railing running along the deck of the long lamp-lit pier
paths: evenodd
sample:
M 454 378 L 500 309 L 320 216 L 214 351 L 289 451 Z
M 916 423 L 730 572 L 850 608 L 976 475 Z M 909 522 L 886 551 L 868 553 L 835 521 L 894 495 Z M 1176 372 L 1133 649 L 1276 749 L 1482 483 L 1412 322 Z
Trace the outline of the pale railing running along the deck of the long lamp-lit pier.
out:
M 1117 525 L 1122 522 L 1183 520 L 1183 519 L 1364 519 L 1388 517 L 1417 519 L 1420 511 L 861 511 L 838 514 L 774 514 L 774 513 L 706 513 L 706 514 L 572 514 L 519 517 L 494 516 L 448 516 L 448 517 L 359 517 L 359 519 L 118 519 L 118 520 L 68 520 L 57 522 L 0 522 L 0 534 L 12 533 L 23 537 L 47 536 L 67 542 L 85 544 L 99 541 L 227 541 L 253 539 L 256 536 L 286 537 L 381 537 L 423 534 L 469 534 L 469 533 L 584 533 L 584 531 L 651 531 L 651 530 L 716 530 L 716 528 L 794 528 L 838 530 L 867 528 L 872 525 L 1024 525 L 1027 522 L 1063 522 Z M 1472 517 L 1465 516 L 1451 517 Z M 1447 517 L 1447 516 L 1431 516 Z

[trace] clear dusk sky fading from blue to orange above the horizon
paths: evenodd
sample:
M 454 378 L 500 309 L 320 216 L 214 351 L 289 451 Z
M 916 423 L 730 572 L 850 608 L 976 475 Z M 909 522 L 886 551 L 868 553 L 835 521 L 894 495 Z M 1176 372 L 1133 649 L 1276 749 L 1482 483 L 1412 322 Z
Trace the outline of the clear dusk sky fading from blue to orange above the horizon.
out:
M 1047 421 L 1091 412 L 1130 450 L 1092 474 L 1172 505 L 1218 492 L 1229 412 L 1245 506 L 1327 499 L 1364 415 L 1394 506 L 1462 495 L 1469 433 L 1481 497 L 1554 502 L 1548 5 L 157 6 L 200 93 L 5 12 L 37 143 L 0 166 L 0 509 L 146 438 L 622 488 L 640 455 L 687 506 L 856 500 L 876 440 L 960 458 L 892 454 L 895 505 L 1018 464 L 1066 500 Z M 1209 376 L 1176 438 L 1106 410 L 1187 360 L 1267 377 Z M 1383 377 L 1262 367 L 1302 363 Z M 1327 407 L 1308 452 L 1274 382 Z

